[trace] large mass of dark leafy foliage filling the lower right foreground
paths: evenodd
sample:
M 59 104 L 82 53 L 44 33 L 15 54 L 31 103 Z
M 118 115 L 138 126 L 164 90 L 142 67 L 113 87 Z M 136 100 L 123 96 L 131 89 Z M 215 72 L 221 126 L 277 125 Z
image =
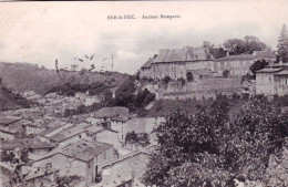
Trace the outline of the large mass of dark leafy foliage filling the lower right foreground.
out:
M 245 98 L 232 117 L 233 100 L 218 96 L 193 115 L 177 110 L 157 128 L 158 147 L 143 180 L 157 186 L 228 186 L 234 178 L 267 186 L 270 157 L 287 147 L 287 113 L 263 96 Z M 235 104 L 235 103 L 234 103 Z

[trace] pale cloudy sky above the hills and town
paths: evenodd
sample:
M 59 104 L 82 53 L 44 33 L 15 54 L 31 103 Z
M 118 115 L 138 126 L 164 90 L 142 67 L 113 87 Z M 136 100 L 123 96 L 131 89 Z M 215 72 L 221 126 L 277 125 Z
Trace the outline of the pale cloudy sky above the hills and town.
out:
M 125 14 L 136 19 L 107 19 Z M 160 14 L 179 18 L 142 19 Z M 203 41 L 255 35 L 276 50 L 284 23 L 287 0 L 0 2 L 0 62 L 135 73 L 160 49 Z

